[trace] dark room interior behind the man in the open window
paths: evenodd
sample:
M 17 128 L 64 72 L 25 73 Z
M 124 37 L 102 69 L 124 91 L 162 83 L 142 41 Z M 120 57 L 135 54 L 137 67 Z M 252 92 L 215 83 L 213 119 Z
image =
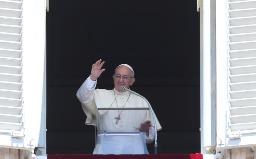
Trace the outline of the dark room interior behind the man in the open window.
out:
M 196 0 L 50 0 L 47 12 L 47 154 L 91 154 L 94 127 L 76 91 L 105 61 L 135 71 L 131 89 L 148 99 L 163 129 L 158 153 L 200 153 L 200 43 Z M 154 153 L 154 143 L 148 144 Z

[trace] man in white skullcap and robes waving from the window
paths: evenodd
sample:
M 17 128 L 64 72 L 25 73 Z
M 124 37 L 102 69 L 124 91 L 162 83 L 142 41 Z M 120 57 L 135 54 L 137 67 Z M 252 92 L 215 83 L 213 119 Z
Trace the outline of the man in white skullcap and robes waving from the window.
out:
M 162 129 L 156 116 L 156 126 L 151 122 L 153 121 L 151 111 L 98 110 L 98 108 L 149 108 L 143 98 L 121 88 L 121 86 L 129 88 L 135 82 L 134 71 L 127 64 L 121 64 L 116 68 L 113 75 L 114 89 L 95 89 L 97 78 L 105 71 L 102 69 L 104 63 L 100 59 L 92 65 L 90 76 L 76 93 L 87 116 L 85 124 L 94 125 L 104 132 L 146 132 L 146 135 L 144 138 L 138 137 L 140 135 L 104 137 L 97 133 L 93 154 L 148 154 L 147 148 L 143 146 L 143 142 L 145 143 L 143 140 L 151 143 L 155 139 L 155 129 L 157 131 Z M 99 119 L 100 121 L 97 121 Z

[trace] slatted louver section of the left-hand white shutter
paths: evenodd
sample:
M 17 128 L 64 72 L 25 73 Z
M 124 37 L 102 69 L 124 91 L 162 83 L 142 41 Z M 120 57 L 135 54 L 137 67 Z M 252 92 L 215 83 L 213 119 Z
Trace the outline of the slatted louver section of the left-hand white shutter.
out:
M 0 0 L 0 133 L 20 137 L 24 132 L 21 7 L 21 1 Z

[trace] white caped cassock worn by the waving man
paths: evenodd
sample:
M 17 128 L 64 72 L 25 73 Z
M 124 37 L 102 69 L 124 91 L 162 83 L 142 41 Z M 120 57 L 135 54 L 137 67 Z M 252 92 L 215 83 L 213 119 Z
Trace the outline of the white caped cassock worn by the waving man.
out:
M 113 90 L 95 89 L 96 81 L 92 81 L 89 77 L 84 81 L 78 89 L 76 96 L 82 104 L 83 111 L 87 118 L 85 124 L 97 126 L 97 116 L 101 114 L 104 120 L 101 120 L 101 128 L 110 132 L 139 132 L 140 124 L 146 120 L 152 121 L 152 128 L 146 136 L 146 142 L 151 143 L 155 139 L 155 126 L 151 111 L 99 111 L 98 108 L 148 108 L 147 102 L 128 91 L 118 92 Z M 120 120 L 116 124 L 115 119 L 120 115 Z M 99 119 L 99 118 L 98 118 Z M 157 131 L 162 127 L 156 119 Z M 98 124 L 99 125 L 99 124 Z M 99 129 L 99 128 L 98 128 Z M 101 140 L 97 137 L 97 142 L 93 154 L 147 154 L 148 151 L 141 145 L 136 136 L 114 136 Z

